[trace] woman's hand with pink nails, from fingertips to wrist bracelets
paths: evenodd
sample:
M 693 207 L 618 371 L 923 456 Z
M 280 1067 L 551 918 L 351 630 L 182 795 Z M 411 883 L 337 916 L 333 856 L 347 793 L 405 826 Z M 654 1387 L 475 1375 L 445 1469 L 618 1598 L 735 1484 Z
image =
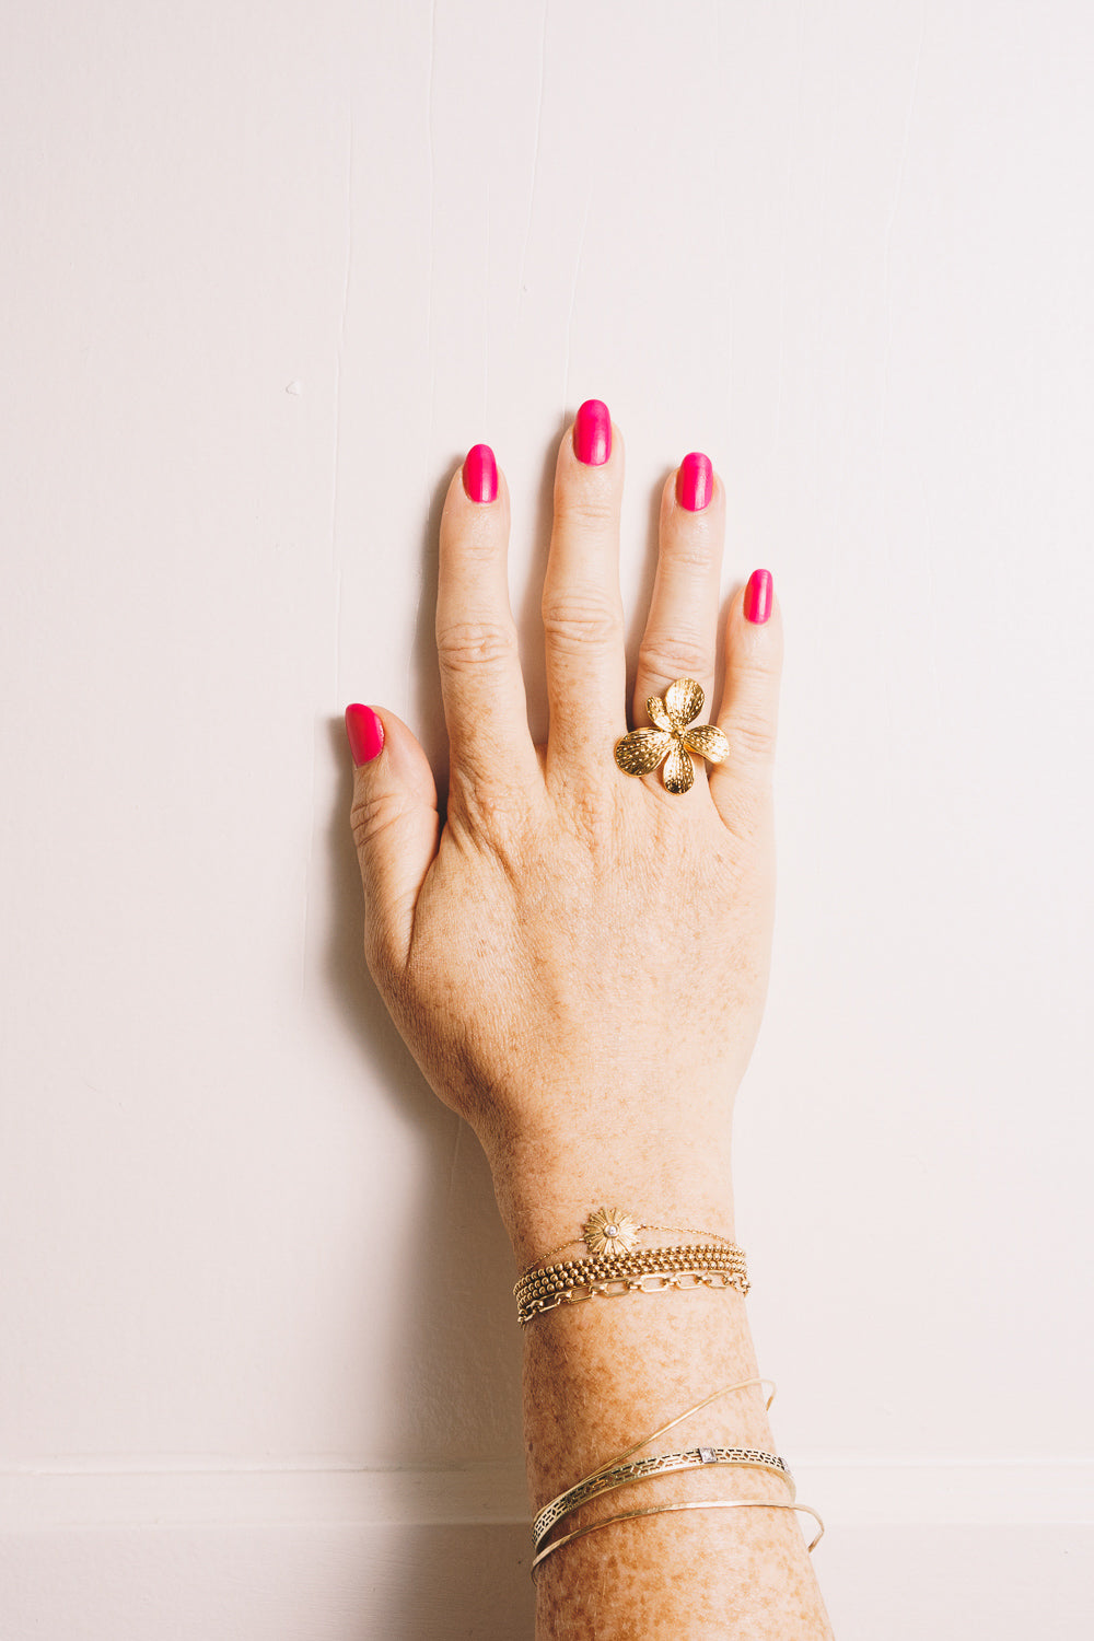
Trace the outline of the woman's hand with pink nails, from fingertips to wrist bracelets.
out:
M 664 487 L 638 655 L 646 699 L 695 679 L 728 740 L 674 794 L 615 763 L 627 734 L 607 409 L 563 438 L 543 589 L 549 735 L 528 732 L 507 587 L 508 492 L 476 446 L 441 519 L 436 643 L 451 745 L 444 824 L 392 712 L 351 707 L 353 830 L 376 983 L 441 1099 L 479 1136 L 518 1259 L 592 1206 L 732 1234 L 732 1101 L 759 1026 L 773 921 L 781 627 L 758 571 L 730 606 L 712 711 L 725 492 L 705 456 Z

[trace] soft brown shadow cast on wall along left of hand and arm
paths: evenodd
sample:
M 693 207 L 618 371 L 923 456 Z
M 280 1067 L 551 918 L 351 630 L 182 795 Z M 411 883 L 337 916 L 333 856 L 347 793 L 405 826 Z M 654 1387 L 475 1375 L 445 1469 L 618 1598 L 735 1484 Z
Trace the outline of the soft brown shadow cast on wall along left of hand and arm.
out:
M 423 594 L 413 678 L 418 711 L 413 729 L 433 765 L 441 814 L 448 788 L 440 674 L 433 645 L 436 610 L 436 538 L 448 476 L 438 486 L 423 540 Z M 402 1296 L 389 1339 L 377 1337 L 376 1313 L 366 1310 L 351 1337 L 369 1355 L 387 1355 L 387 1372 L 364 1372 L 362 1383 L 384 1383 L 371 1465 L 423 1470 L 420 1524 L 377 1523 L 367 1531 L 367 1577 L 361 1600 L 364 1638 L 531 1634 L 533 1588 L 528 1575 L 528 1524 L 438 1520 L 428 1498 L 428 1470 L 484 1460 L 520 1465 L 522 1339 L 512 1285 L 513 1257 L 497 1214 L 490 1173 L 471 1129 L 448 1111 L 425 1081 L 399 1035 L 367 971 L 361 945 L 361 878 L 348 816 L 353 776 L 346 770 L 344 727 L 331 720 L 331 752 L 346 771 L 330 817 L 335 894 L 326 980 L 361 1049 L 369 1075 L 364 1088 L 382 1090 L 417 1139 L 420 1178 L 395 1224 L 384 1226 L 384 1283 Z M 384 1159 L 376 1159 L 384 1168 Z M 364 1182 L 367 1190 L 367 1182 Z M 374 1249 L 362 1250 L 362 1282 L 348 1310 L 376 1287 Z M 392 1282 L 392 1272 L 394 1282 Z

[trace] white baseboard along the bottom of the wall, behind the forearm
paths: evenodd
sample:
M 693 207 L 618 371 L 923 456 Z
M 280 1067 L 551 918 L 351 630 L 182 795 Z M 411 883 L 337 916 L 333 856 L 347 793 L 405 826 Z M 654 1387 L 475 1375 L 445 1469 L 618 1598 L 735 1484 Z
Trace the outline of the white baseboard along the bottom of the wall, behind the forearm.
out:
M 814 1459 L 795 1477 L 825 1518 L 838 1641 L 1092 1633 L 1089 1464 Z M 0 1477 L 3 1641 L 530 1641 L 528 1562 L 508 1462 Z

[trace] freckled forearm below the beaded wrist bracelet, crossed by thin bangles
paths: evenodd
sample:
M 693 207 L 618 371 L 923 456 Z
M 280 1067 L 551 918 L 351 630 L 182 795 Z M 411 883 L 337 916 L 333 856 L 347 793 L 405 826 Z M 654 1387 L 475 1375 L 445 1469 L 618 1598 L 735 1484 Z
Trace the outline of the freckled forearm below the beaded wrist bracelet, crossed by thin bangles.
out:
M 536 1316 L 525 1331 L 533 1511 L 715 1390 L 758 1375 L 746 1303 L 732 1288 L 594 1298 Z M 758 1385 L 735 1390 L 638 1457 L 695 1447 L 777 1454 L 764 1401 Z M 746 1465 L 654 1475 L 581 1505 L 551 1538 L 700 1500 L 786 1505 L 792 1487 Z M 812 1518 L 791 1510 L 689 1510 L 577 1538 L 536 1572 L 536 1641 L 820 1641 L 832 1631 L 800 1523 L 810 1539 Z

